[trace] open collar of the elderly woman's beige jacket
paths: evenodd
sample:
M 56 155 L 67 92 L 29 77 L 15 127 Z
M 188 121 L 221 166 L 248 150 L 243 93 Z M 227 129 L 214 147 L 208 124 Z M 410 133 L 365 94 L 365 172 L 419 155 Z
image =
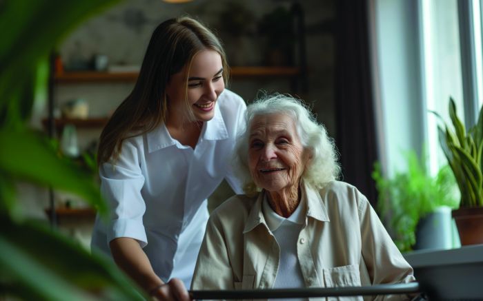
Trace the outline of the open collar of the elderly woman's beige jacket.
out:
M 322 201 L 322 197 L 320 196 L 320 194 L 317 193 L 317 190 L 305 184 L 302 185 L 302 189 L 304 189 L 303 195 L 306 197 L 307 204 L 306 212 L 302 214 L 306 217 L 310 216 L 311 218 L 314 218 L 315 220 L 319 220 L 321 222 L 330 222 L 330 220 L 328 219 L 327 209 L 324 205 L 324 202 Z M 265 194 L 265 190 L 262 190 L 262 192 L 258 194 L 255 205 L 253 205 L 252 209 L 250 210 L 250 214 L 248 214 L 243 233 L 252 231 L 260 224 L 263 224 L 266 229 L 269 229 L 262 211 L 262 204 L 265 199 Z

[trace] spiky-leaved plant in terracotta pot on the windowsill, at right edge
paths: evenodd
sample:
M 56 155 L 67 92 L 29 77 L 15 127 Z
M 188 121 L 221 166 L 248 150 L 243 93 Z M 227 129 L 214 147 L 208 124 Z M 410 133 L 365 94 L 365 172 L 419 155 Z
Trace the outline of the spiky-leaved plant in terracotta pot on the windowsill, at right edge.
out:
M 483 243 L 483 110 L 480 109 L 477 123 L 466 130 L 450 98 L 449 116 L 453 129 L 444 123 L 444 130 L 438 127 L 438 132 L 461 192 L 460 208 L 453 210 L 453 218 L 462 245 Z

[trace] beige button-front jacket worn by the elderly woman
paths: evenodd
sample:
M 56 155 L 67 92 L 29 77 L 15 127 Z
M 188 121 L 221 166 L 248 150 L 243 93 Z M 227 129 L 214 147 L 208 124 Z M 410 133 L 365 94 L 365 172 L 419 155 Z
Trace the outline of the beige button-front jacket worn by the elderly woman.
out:
M 304 187 L 306 222 L 297 257 L 306 287 L 346 287 L 415 280 L 368 200 L 355 187 L 334 181 Z M 257 198 L 233 196 L 208 220 L 192 289 L 270 289 L 279 246 Z M 406 296 L 380 296 L 376 299 Z M 368 298 L 372 299 L 372 298 Z M 344 300 L 348 300 L 344 298 Z M 353 298 L 352 300 L 361 300 Z

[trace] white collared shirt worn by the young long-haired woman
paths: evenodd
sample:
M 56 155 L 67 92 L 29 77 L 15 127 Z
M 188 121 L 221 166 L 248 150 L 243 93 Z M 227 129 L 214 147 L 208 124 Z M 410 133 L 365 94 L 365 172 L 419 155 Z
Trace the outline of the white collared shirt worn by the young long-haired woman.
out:
M 242 192 L 229 160 L 245 110 L 240 96 L 224 90 L 195 149 L 171 138 L 164 124 L 126 139 L 115 166 L 99 168 L 101 192 L 112 212 L 108 225 L 96 218 L 92 249 L 110 255 L 110 240 L 135 238 L 162 280 L 180 278 L 190 287 L 208 220 L 208 196 L 224 178 L 237 194 Z

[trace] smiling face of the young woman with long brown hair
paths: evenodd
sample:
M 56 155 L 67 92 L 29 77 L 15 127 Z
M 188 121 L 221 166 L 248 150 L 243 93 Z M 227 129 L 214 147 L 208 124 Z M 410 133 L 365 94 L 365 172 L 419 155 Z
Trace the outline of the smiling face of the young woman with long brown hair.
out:
M 215 103 L 225 88 L 221 56 L 215 50 L 201 50 L 191 63 L 173 74 L 166 85 L 168 96 L 168 122 L 186 120 L 186 85 L 188 103 L 197 121 L 209 121 L 215 114 Z M 186 83 L 188 79 L 188 83 Z

